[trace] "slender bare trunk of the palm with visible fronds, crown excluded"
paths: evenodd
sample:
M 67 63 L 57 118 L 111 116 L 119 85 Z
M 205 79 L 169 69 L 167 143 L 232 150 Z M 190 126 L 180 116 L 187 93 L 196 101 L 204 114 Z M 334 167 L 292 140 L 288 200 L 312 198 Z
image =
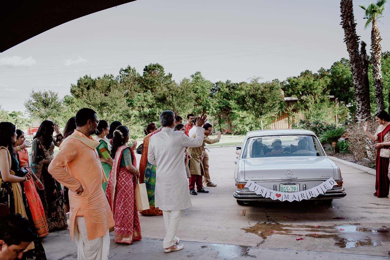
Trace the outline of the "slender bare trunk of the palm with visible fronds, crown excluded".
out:
M 385 110 L 383 104 L 383 84 L 382 84 L 382 46 L 381 46 L 381 35 L 379 34 L 378 24 L 376 20 L 372 20 L 371 30 L 371 63 L 372 63 L 372 76 L 374 77 L 375 87 L 375 102 L 376 112 Z

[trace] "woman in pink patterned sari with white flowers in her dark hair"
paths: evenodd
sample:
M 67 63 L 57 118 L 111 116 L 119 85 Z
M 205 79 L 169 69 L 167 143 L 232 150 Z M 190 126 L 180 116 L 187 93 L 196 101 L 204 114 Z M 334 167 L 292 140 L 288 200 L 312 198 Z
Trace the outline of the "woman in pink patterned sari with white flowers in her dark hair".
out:
M 134 197 L 137 177 L 140 175 L 133 151 L 137 142 L 131 147 L 126 145 L 129 141 L 129 129 L 124 125 L 118 126 L 114 131 L 112 141 L 113 166 L 107 183 L 106 197 L 115 222 L 114 241 L 132 244 L 134 240 L 142 239 Z

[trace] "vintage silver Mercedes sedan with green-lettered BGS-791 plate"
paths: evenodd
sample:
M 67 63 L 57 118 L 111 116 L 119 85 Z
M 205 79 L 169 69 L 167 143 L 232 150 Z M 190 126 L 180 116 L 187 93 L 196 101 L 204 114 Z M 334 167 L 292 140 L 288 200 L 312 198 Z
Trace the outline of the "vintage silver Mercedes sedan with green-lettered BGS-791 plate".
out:
M 269 190 L 296 192 L 314 188 L 331 177 L 331 190 L 310 200 L 340 199 L 346 196 L 340 168 L 332 161 L 312 131 L 301 129 L 248 132 L 237 157 L 233 196 L 238 204 L 271 200 L 245 187 L 248 180 Z

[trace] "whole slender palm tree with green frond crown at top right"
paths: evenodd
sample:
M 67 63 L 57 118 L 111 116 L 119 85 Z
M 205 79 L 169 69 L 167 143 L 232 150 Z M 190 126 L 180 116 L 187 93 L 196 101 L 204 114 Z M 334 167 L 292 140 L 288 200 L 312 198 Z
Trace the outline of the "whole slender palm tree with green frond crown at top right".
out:
M 378 0 L 375 4 L 371 2 L 367 8 L 364 5 L 359 5 L 364 10 L 364 19 L 367 19 L 367 22 L 364 26 L 365 29 L 372 23 L 371 29 L 371 63 L 372 63 L 372 76 L 374 77 L 374 87 L 375 87 L 375 102 L 376 102 L 376 111 L 385 110 L 385 105 L 383 104 L 383 84 L 382 84 L 382 46 L 381 46 L 381 35 L 379 34 L 378 28 L 378 18 L 383 16 L 382 13 L 385 10 L 386 0 Z

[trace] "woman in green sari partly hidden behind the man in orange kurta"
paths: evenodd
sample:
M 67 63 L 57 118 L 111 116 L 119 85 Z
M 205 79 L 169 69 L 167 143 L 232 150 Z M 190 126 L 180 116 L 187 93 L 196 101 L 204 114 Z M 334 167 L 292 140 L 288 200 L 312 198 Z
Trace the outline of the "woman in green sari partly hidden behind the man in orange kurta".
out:
M 99 154 L 101 166 L 103 168 L 104 173 L 106 174 L 107 179 L 110 176 L 110 171 L 113 163 L 113 160 L 110 156 L 110 140 L 108 140 L 108 138 L 106 137 L 106 134 L 108 134 L 109 130 L 110 127 L 108 127 L 107 121 L 100 120 L 96 128 L 96 141 L 98 141 L 100 144 L 97 146 L 96 150 Z M 107 182 L 102 183 L 102 186 L 103 190 L 106 191 Z

